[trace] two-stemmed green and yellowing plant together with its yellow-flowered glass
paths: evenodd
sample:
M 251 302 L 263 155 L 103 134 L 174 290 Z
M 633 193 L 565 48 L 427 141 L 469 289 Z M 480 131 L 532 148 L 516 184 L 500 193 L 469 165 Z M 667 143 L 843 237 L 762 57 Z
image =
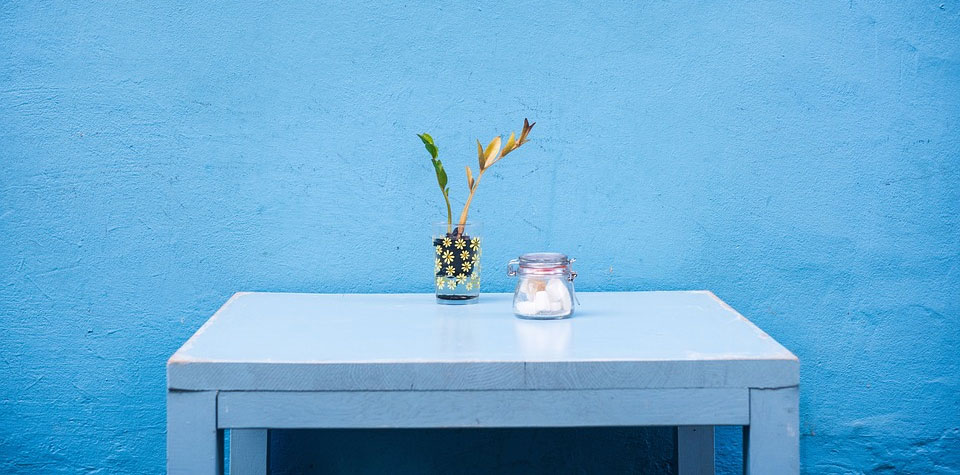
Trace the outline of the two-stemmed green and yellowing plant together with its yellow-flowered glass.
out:
M 480 256 L 482 233 L 479 223 L 470 222 L 467 217 L 470 205 L 476 195 L 480 180 L 484 173 L 493 164 L 503 157 L 527 143 L 527 136 L 536 124 L 523 119 L 523 128 L 518 137 L 511 132 L 504 142 L 500 136 L 495 137 L 486 147 L 477 140 L 477 172 L 466 166 L 467 189 L 469 194 L 460 212 L 460 217 L 454 223 L 450 206 L 450 188 L 447 186 L 447 172 L 439 159 L 439 150 L 430 134 L 418 134 L 423 146 L 430 153 L 430 162 L 437 175 L 437 184 L 447 208 L 446 222 L 434 225 L 434 285 L 436 287 L 437 303 L 468 304 L 476 303 L 480 297 Z

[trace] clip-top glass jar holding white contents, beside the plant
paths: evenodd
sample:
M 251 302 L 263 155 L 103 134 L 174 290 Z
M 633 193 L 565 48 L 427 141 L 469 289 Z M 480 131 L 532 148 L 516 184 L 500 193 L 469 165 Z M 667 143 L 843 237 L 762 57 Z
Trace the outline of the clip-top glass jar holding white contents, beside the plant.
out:
M 519 276 L 513 293 L 513 313 L 520 318 L 553 320 L 573 315 L 573 279 L 570 259 L 558 252 L 524 254 L 507 264 L 507 275 Z

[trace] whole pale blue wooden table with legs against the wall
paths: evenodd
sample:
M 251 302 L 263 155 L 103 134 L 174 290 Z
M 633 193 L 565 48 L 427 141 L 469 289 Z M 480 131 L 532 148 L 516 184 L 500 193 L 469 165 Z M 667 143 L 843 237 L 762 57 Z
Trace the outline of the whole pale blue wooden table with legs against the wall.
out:
M 744 426 L 754 474 L 799 472 L 799 362 L 710 292 L 578 293 L 527 321 L 507 294 L 238 293 L 167 362 L 167 472 L 267 471 L 271 428 L 678 426 L 682 474 Z

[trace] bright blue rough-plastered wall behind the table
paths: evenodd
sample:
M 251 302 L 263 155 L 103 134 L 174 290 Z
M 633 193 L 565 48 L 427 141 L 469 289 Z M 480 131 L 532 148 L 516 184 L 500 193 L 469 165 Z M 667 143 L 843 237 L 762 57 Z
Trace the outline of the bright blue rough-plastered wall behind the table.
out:
M 414 134 L 462 202 L 524 117 L 475 201 L 487 290 L 547 248 L 583 290 L 712 289 L 800 357 L 805 472 L 960 471 L 956 2 L 159 3 L 0 3 L 0 472 L 162 471 L 164 362 L 234 291 L 430 291 Z M 672 463 L 662 430 L 272 443 Z

